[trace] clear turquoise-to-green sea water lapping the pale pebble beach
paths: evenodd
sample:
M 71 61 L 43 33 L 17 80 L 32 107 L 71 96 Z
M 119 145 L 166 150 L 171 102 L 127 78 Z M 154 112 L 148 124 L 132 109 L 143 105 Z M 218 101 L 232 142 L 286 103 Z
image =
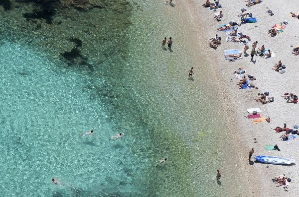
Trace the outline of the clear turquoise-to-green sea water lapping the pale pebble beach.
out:
M 187 79 L 204 62 L 188 52 L 175 6 L 111 1 L 57 9 L 47 24 L 22 15 L 38 4 L 13 5 L 1 10 L 0 196 L 230 193 L 215 181 L 233 163 L 221 106 L 209 99 L 208 76 Z M 172 52 L 160 47 L 170 36 Z M 67 61 L 60 54 L 74 48 L 72 37 L 82 47 Z M 92 129 L 96 137 L 79 135 Z M 112 140 L 118 132 L 125 136 Z M 166 165 L 156 162 L 164 157 Z

